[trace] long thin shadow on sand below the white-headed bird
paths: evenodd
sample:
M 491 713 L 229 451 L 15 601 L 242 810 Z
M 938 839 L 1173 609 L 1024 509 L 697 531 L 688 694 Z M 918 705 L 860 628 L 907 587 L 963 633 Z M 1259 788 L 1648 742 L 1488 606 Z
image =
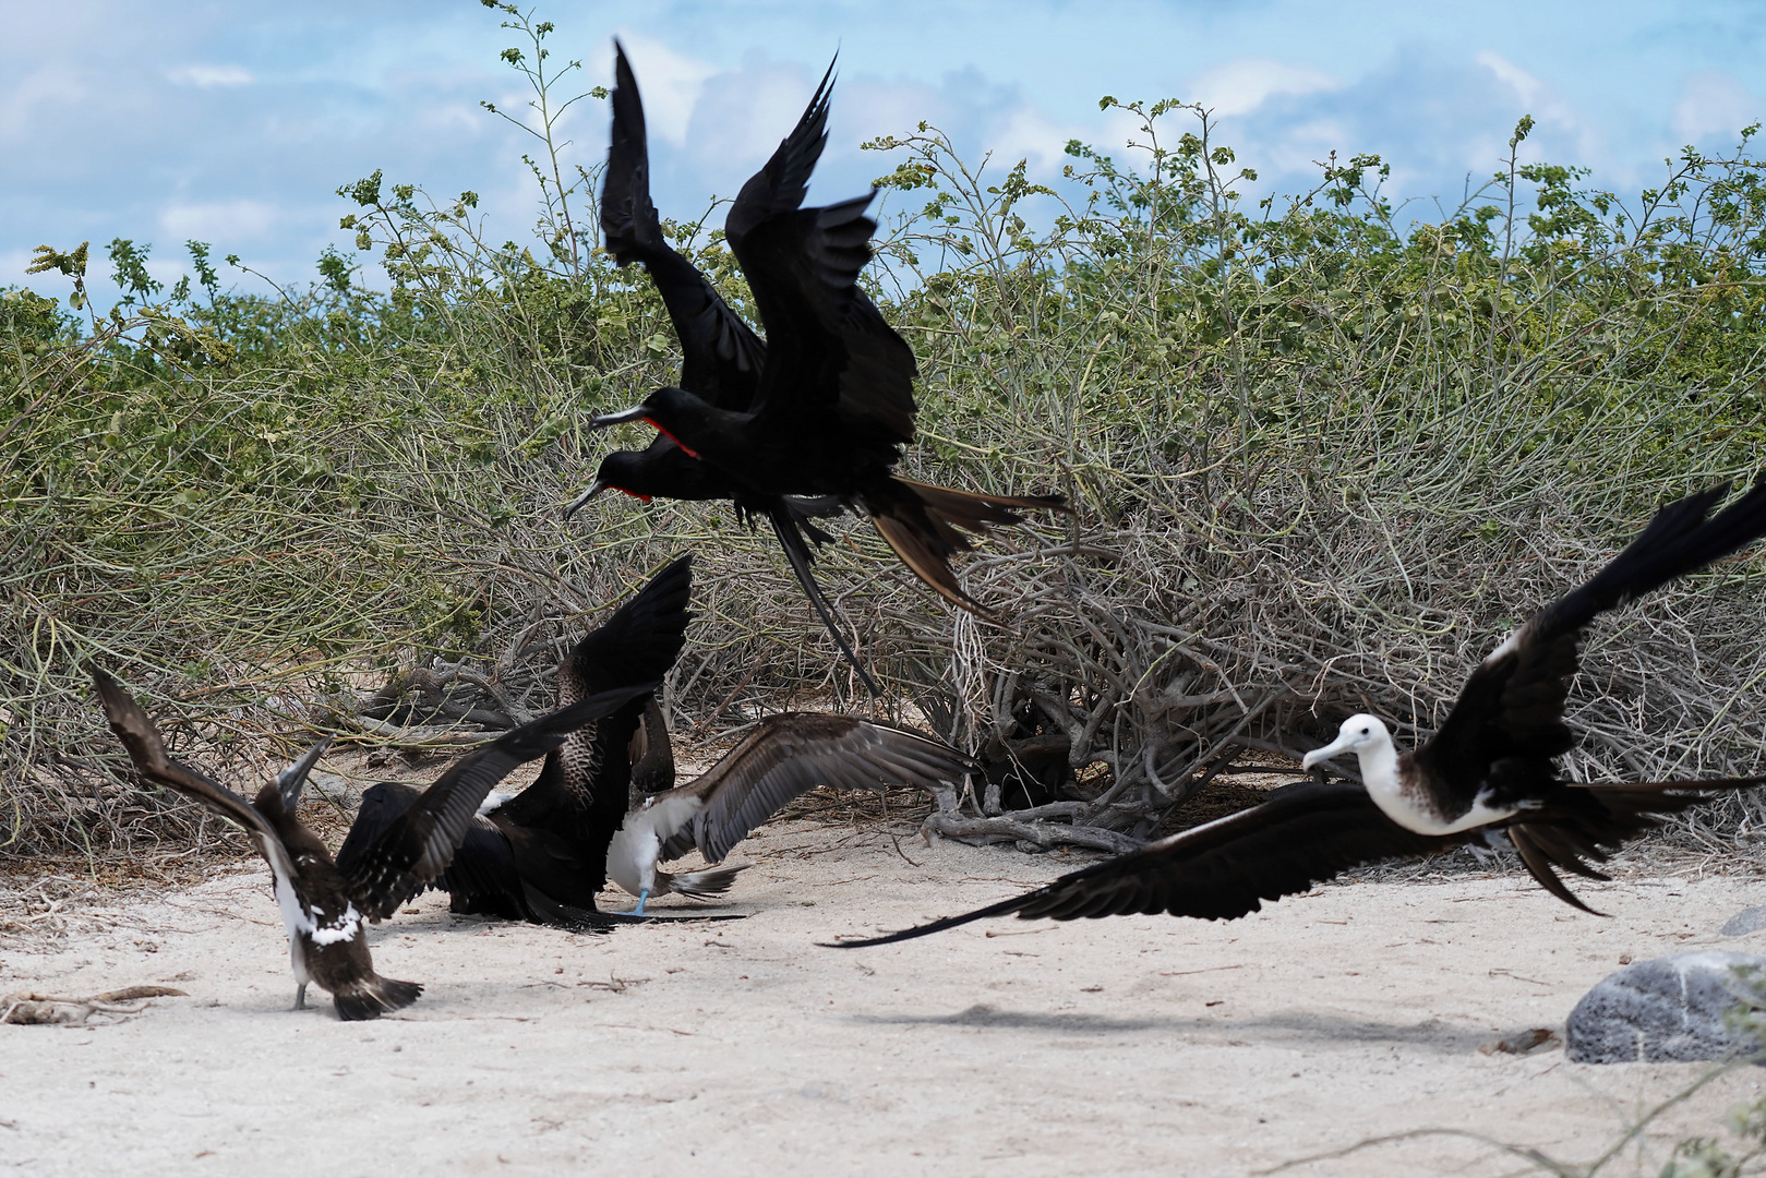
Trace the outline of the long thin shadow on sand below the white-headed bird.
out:
M 955 1014 L 858 1014 L 855 1023 L 872 1026 L 973 1026 L 978 1030 L 1028 1030 L 1068 1035 L 1113 1035 L 1128 1031 L 1169 1031 L 1180 1035 L 1249 1035 L 1275 1042 L 1404 1044 L 1438 1054 L 1471 1054 L 1491 1037 L 1489 1030 L 1453 1026 L 1441 1019 L 1422 1023 L 1383 1023 L 1337 1014 L 1287 1010 L 1256 1017 L 1208 1016 L 1189 1019 L 1130 1017 L 1118 1019 L 1084 1012 L 1000 1010 L 977 1003 Z

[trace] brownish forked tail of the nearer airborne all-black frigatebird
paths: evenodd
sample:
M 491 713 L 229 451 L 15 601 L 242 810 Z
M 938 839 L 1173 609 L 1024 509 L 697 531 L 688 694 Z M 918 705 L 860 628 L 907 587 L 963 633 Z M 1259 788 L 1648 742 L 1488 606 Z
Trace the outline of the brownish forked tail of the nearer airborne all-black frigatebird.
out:
M 1065 495 L 984 495 L 913 479 L 890 479 L 885 495 L 867 495 L 865 510 L 901 563 L 952 606 L 994 620 L 950 570 L 950 558 L 970 551 L 964 532 L 982 535 L 996 525 L 1023 523 L 1021 510 L 1065 510 Z

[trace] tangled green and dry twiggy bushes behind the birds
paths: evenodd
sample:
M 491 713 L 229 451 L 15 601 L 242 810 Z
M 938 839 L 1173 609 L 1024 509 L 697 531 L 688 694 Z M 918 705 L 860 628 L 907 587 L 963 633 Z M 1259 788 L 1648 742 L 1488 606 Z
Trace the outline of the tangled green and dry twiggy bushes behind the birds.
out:
M 675 360 L 645 277 L 593 251 L 593 171 L 553 150 L 546 28 L 516 26 L 546 127 L 530 245 L 484 240 L 470 193 L 431 203 L 376 175 L 341 194 L 390 293 L 328 254 L 309 291 L 228 295 L 200 245 L 196 283 L 164 291 L 145 247 L 113 242 L 131 297 L 108 318 L 0 300 L 0 860 L 207 837 L 127 779 L 85 661 L 180 749 L 256 779 L 314 728 L 422 744 L 546 708 L 572 638 L 687 549 L 678 731 L 867 706 L 772 540 L 728 510 L 558 519 L 609 442 L 583 419 Z M 966 166 L 936 129 L 874 145 L 888 207 L 924 203 L 874 267 L 922 360 L 906 468 L 1077 509 L 966 562 L 998 629 L 858 526 L 821 555 L 881 706 L 1000 766 L 934 816 L 964 837 L 1116 850 L 1351 710 L 1415 740 L 1496 636 L 1658 502 L 1752 477 L 1766 442 L 1747 141 L 1688 152 L 1635 200 L 1510 161 L 1420 217 L 1369 157 L 1252 208 L 1204 113 L 1132 109 L 1130 162 L 1074 145 L 1056 189 Z M 703 228 L 675 226 L 745 306 Z M 44 263 L 78 277 L 87 254 Z M 1766 761 L 1762 588 L 1738 560 L 1602 623 L 1570 772 Z M 1701 821 L 1732 834 L 1748 805 Z

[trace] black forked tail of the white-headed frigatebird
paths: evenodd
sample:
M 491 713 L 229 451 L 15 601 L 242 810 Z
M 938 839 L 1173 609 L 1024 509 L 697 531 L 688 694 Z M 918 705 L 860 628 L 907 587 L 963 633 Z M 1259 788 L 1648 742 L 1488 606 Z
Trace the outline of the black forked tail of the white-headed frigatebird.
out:
M 1572 908 L 1602 917 L 1605 913 L 1595 911 L 1565 887 L 1556 869 L 1572 871 L 1584 880 L 1607 880 L 1609 876 L 1591 864 L 1607 862 L 1626 841 L 1660 827 L 1664 814 L 1678 814 L 1718 793 L 1762 784 L 1766 774 L 1704 781 L 1577 784 L 1565 795 L 1568 807 L 1563 812 L 1549 814 L 1549 821 L 1513 823 L 1508 827 L 1508 839 L 1540 887 Z

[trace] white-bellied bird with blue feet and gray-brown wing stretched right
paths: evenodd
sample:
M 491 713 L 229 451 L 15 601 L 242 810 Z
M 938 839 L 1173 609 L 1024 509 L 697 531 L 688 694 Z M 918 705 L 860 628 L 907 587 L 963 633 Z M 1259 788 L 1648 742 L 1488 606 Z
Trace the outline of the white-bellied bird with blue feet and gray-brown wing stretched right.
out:
M 678 892 L 710 899 L 729 888 L 742 867 L 689 874 L 657 871 L 657 862 L 698 850 L 719 864 L 751 830 L 786 802 L 816 786 L 881 789 L 961 781 L 980 772 L 943 740 L 911 728 L 819 712 L 782 712 L 749 731 L 696 781 L 646 798 L 625 816 L 608 848 L 608 874 L 638 897 Z

